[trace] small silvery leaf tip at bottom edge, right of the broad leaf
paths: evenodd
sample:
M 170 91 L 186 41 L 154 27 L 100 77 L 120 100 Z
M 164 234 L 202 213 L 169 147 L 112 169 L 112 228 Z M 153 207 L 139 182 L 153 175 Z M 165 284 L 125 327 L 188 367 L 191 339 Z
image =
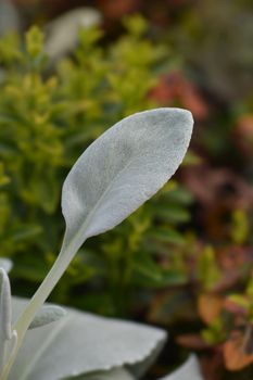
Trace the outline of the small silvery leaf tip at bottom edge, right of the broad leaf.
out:
M 160 380 L 204 380 L 204 378 L 195 355 L 191 355 L 179 369 Z

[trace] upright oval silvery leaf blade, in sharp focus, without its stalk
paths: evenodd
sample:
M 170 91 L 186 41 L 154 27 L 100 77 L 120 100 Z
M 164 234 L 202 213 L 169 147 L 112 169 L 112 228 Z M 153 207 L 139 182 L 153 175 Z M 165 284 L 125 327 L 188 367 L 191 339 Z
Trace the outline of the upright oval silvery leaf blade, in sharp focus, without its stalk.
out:
M 192 125 L 189 111 L 157 109 L 126 117 L 97 139 L 63 185 L 63 252 L 72 245 L 75 253 L 157 192 L 180 165 Z

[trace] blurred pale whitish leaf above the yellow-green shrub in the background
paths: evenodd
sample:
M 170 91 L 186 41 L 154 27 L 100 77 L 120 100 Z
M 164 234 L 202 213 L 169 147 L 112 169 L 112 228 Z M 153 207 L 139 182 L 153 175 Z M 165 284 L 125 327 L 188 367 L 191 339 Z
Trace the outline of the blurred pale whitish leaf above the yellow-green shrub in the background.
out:
M 45 47 L 47 54 L 54 61 L 68 53 L 77 43 L 79 28 L 99 25 L 101 21 L 101 13 L 88 7 L 74 9 L 54 18 L 46 26 L 48 31 Z

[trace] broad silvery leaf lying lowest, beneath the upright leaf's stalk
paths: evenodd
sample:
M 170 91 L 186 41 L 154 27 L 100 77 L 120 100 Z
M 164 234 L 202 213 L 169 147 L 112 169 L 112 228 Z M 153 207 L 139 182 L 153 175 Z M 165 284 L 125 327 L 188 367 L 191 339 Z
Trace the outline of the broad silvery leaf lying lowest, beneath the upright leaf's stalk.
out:
M 13 299 L 17 315 L 27 301 Z M 162 346 L 163 330 L 66 308 L 58 324 L 29 330 L 9 380 L 58 380 L 142 364 Z

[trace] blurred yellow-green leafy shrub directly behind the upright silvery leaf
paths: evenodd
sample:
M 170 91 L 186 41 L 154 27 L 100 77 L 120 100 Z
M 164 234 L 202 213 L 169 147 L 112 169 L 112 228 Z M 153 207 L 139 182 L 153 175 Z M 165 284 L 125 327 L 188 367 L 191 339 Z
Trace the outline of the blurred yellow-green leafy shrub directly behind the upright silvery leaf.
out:
M 125 35 L 109 47 L 99 29 L 80 30 L 73 56 L 55 69 L 39 28 L 25 40 L 7 35 L 0 41 L 0 246 L 15 263 L 14 293 L 31 293 L 58 255 L 61 187 L 75 160 L 122 117 L 156 106 L 149 92 L 169 56 L 146 38 L 142 17 L 124 24 Z M 176 226 L 189 220 L 191 202 L 172 181 L 114 231 L 89 240 L 53 301 L 123 315 L 132 292 L 186 281 L 160 262 L 169 248 L 186 244 Z

